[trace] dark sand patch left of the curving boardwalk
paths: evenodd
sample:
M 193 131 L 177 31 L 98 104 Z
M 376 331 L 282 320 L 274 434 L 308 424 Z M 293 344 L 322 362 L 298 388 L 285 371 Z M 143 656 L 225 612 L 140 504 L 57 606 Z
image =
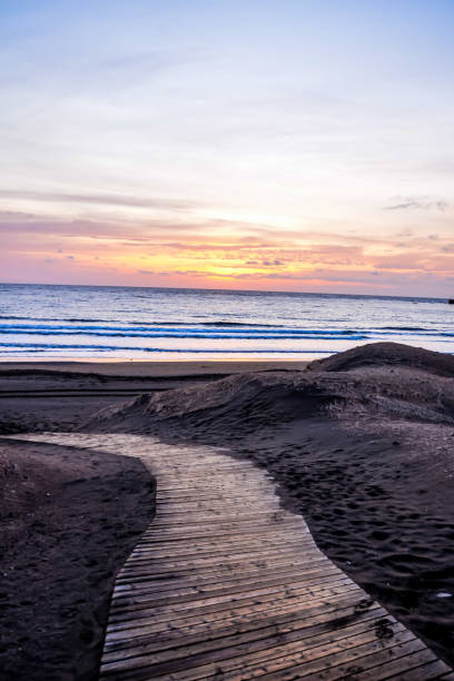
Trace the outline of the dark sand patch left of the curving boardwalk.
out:
M 155 481 L 130 457 L 0 440 L 0 679 L 96 679 Z

